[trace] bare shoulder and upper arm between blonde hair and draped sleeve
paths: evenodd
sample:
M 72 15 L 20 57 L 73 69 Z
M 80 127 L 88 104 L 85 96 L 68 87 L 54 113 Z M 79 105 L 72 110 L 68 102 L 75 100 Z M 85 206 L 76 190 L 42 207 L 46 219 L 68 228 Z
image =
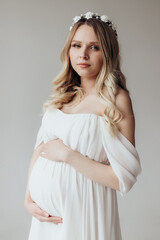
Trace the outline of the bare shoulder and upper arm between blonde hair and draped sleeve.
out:
M 135 146 L 135 118 L 132 100 L 125 90 L 118 88 L 116 106 L 123 114 L 123 119 L 117 124 L 119 131 Z

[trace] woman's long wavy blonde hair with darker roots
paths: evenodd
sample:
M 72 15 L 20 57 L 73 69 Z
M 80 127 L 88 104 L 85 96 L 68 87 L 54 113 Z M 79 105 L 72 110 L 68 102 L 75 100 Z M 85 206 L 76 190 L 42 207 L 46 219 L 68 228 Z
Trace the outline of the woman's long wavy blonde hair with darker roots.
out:
M 115 100 L 117 86 L 128 91 L 126 79 L 120 69 L 120 54 L 117 37 L 113 30 L 103 21 L 90 18 L 80 19 L 69 32 L 60 59 L 63 68 L 59 75 L 52 81 L 53 89 L 48 99 L 43 104 L 43 110 L 53 108 L 61 109 L 63 104 L 69 104 L 75 96 L 80 99 L 84 90 L 81 88 L 80 76 L 74 71 L 69 59 L 69 50 L 72 38 L 76 30 L 83 24 L 93 28 L 97 35 L 100 49 L 103 54 L 103 65 L 96 78 L 96 95 L 101 103 L 106 106 L 104 118 L 106 127 L 112 136 L 117 135 L 117 123 L 123 118 L 123 114 L 116 107 Z

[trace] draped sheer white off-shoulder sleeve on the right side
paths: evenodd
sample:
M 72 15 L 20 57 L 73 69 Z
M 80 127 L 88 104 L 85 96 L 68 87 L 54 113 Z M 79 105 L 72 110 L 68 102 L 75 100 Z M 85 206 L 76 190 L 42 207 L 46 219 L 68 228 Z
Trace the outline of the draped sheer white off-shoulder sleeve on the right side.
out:
M 119 179 L 120 194 L 124 196 L 135 184 L 137 176 L 142 171 L 138 152 L 121 132 L 113 138 L 108 133 L 104 121 L 101 124 L 101 130 L 104 150 Z

